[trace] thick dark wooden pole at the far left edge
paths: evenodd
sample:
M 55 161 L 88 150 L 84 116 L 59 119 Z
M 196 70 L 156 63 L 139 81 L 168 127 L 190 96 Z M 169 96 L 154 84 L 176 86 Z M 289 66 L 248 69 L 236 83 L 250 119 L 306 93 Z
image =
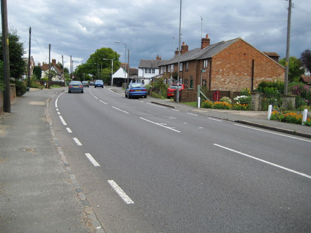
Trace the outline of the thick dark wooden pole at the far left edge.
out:
M 9 57 L 9 36 L 8 36 L 8 12 L 6 0 L 1 0 L 1 21 L 2 21 L 2 47 L 3 47 L 3 80 L 4 90 L 4 112 L 11 113 L 10 99 L 10 57 Z

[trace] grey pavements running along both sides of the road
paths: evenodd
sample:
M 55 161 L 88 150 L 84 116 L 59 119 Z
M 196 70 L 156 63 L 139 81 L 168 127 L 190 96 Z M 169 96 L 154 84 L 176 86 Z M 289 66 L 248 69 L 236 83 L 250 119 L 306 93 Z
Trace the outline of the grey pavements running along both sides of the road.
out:
M 109 87 L 121 95 L 121 87 Z M 0 116 L 0 232 L 104 233 L 55 137 L 48 106 L 66 87 L 32 89 Z M 267 112 L 196 108 L 141 99 L 194 114 L 311 138 L 311 127 L 267 119 Z

